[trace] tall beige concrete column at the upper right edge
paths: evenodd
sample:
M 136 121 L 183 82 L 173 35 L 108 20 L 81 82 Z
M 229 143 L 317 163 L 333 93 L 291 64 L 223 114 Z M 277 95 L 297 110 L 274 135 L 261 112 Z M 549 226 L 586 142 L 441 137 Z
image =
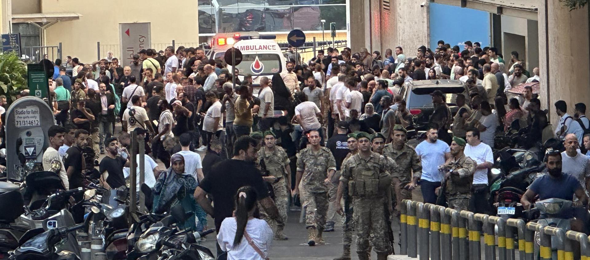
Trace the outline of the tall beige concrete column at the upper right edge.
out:
M 553 104 L 556 101 L 565 101 L 571 115 L 574 104 L 590 104 L 588 6 L 570 12 L 559 0 L 548 0 L 548 3 L 546 8 L 540 5 L 538 13 L 540 100 L 542 107 L 549 109 L 550 122 L 555 126 L 558 118 Z M 549 32 L 549 41 L 546 41 L 546 32 Z

